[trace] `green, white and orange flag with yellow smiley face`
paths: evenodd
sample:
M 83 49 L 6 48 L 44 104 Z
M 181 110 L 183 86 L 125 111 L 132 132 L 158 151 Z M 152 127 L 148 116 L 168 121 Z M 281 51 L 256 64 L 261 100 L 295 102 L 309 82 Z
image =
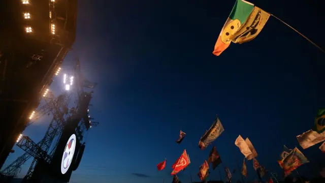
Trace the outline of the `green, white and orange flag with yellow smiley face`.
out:
M 231 36 L 233 36 L 245 23 L 249 15 L 254 9 L 254 4 L 244 0 L 237 0 L 228 19 L 225 21 L 218 40 L 215 43 L 213 54 L 219 56 L 231 43 Z

